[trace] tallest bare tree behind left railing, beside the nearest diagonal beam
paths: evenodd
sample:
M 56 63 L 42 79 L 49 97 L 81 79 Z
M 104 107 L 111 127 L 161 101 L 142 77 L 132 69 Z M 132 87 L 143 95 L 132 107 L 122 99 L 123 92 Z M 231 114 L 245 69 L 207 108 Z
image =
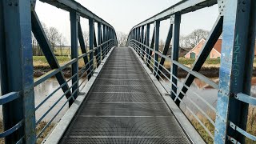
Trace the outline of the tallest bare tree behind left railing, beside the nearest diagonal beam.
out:
M 55 27 L 50 27 L 46 35 L 50 42 L 52 50 L 55 51 L 54 48 L 55 46 L 57 46 L 60 38 L 58 30 Z

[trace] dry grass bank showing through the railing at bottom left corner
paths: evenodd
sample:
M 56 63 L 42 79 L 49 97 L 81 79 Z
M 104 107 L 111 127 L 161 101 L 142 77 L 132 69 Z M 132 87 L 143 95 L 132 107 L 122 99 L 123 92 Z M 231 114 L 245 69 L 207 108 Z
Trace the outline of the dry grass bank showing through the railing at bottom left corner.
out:
M 39 134 L 40 131 L 44 128 L 44 126 L 46 126 L 47 122 L 40 122 L 38 124 L 38 126 L 36 127 L 36 134 Z M 50 126 L 48 126 L 46 128 L 46 130 L 42 133 L 42 135 L 38 138 L 37 140 L 37 144 L 40 144 L 44 138 L 47 137 L 47 135 L 50 133 L 50 131 L 54 128 L 54 124 L 50 124 Z M 2 121 L 0 122 L 0 132 L 3 132 L 3 124 Z M 0 138 L 0 144 L 4 144 L 5 140 L 4 138 Z

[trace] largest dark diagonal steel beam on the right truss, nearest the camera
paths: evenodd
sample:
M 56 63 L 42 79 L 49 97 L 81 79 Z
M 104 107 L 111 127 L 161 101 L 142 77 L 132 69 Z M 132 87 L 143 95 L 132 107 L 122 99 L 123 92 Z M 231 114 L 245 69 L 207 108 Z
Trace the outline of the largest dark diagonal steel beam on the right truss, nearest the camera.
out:
M 219 36 L 222 34 L 222 24 L 223 24 L 223 17 L 219 16 L 214 24 L 213 29 L 210 31 L 210 35 L 206 39 L 206 42 L 204 43 L 204 46 L 202 47 L 202 50 L 200 51 L 200 54 L 198 58 L 195 60 L 191 70 L 198 72 L 204 62 L 206 61 L 208 55 L 210 54 L 210 51 L 213 49 L 215 43 L 218 41 Z M 193 74 L 187 74 L 186 79 L 184 81 L 186 86 L 190 86 L 192 82 L 194 81 L 194 75 Z M 182 86 L 182 92 L 186 94 L 187 88 L 186 86 Z M 184 95 L 180 92 L 178 94 L 179 98 L 183 98 Z M 178 106 L 180 104 L 179 99 L 175 102 Z

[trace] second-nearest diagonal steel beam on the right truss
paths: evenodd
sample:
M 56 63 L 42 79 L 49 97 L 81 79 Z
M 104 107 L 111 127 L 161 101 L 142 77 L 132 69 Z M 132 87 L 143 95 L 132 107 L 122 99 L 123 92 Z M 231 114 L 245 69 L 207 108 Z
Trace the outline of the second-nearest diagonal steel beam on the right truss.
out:
M 172 37 L 173 37 L 173 24 L 170 24 L 170 28 L 169 28 L 167 38 L 166 38 L 166 44 L 162 50 L 163 55 L 167 54 L 169 47 L 170 47 L 170 41 L 171 41 Z M 166 58 L 163 58 L 163 57 L 161 57 L 161 59 L 160 59 L 160 64 L 158 66 L 158 75 L 156 75 L 156 78 L 158 78 L 158 80 L 159 80 L 159 75 L 161 74 L 162 66 L 163 66 L 165 60 L 166 60 Z

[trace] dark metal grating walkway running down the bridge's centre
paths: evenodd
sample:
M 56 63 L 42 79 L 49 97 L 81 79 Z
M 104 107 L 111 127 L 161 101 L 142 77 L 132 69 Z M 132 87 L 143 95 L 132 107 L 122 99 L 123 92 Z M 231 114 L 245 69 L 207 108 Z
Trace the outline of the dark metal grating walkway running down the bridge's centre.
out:
M 190 143 L 130 48 L 114 48 L 61 143 Z

